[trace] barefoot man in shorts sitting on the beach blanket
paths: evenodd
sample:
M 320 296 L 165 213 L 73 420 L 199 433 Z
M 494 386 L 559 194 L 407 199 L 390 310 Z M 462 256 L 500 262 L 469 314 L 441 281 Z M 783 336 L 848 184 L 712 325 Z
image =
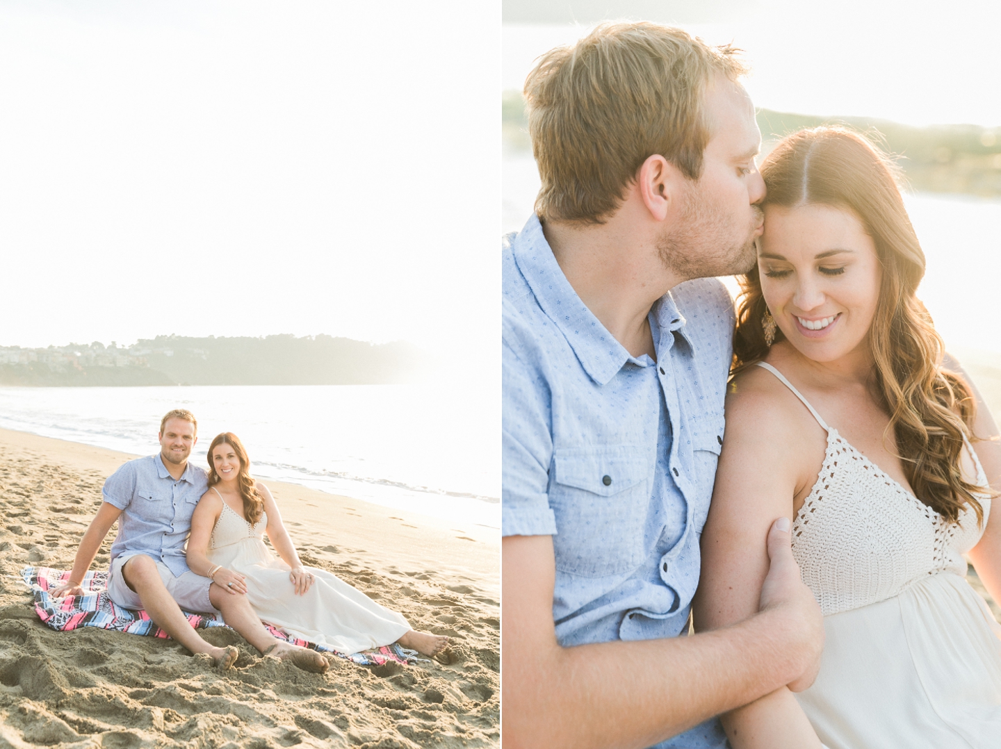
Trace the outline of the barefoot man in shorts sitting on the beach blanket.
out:
M 222 670 L 235 663 L 237 649 L 205 642 L 181 607 L 218 611 L 227 625 L 258 650 L 322 673 L 326 659 L 272 636 L 253 613 L 239 584 L 222 587 L 188 569 L 184 546 L 191 514 L 208 486 L 205 471 L 188 463 L 198 441 L 197 430 L 190 411 L 170 411 L 160 422 L 160 453 L 124 463 L 104 482 L 104 502 L 80 540 L 70 579 L 51 594 L 57 598 L 83 594 L 83 576 L 118 520 L 108 576 L 108 595 L 117 605 L 145 609 L 164 632 L 192 653 L 211 656 Z

